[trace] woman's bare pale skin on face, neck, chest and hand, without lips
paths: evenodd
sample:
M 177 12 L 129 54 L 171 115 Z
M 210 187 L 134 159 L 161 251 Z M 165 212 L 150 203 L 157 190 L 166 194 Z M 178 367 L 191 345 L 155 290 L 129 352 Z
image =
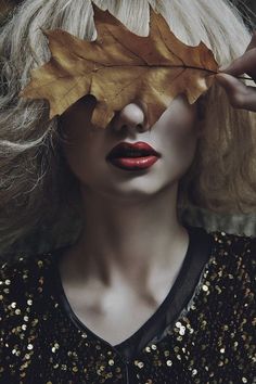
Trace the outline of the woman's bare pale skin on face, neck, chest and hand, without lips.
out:
M 245 54 L 217 76 L 231 104 L 251 111 L 256 111 L 256 89 L 234 76 L 256 78 L 255 40 L 254 35 Z M 177 188 L 194 157 L 200 130 L 196 106 L 182 97 L 154 127 L 149 127 L 140 101 L 126 105 L 105 130 L 90 125 L 92 110 L 93 100 L 81 100 L 62 117 L 72 142 L 64 146 L 65 155 L 80 183 L 85 228 L 65 252 L 60 271 L 74 312 L 115 345 L 155 312 L 183 263 L 189 235 L 177 218 Z M 121 141 L 145 141 L 162 157 L 139 176 L 115 169 L 105 155 Z

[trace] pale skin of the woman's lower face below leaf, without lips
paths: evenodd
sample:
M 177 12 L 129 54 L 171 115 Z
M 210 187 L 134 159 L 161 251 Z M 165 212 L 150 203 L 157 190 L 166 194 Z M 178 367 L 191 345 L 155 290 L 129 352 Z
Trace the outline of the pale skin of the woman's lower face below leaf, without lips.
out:
M 65 155 L 80 181 L 82 193 L 93 191 L 102 199 L 129 203 L 176 183 L 185 172 L 195 150 L 195 105 L 189 106 L 179 97 L 150 130 L 146 107 L 139 102 L 126 105 L 106 129 L 91 125 L 89 116 L 93 104 L 92 98 L 84 98 L 62 117 L 71 142 L 64 146 Z M 117 143 L 139 140 L 162 154 L 152 168 L 140 172 L 124 171 L 105 161 Z

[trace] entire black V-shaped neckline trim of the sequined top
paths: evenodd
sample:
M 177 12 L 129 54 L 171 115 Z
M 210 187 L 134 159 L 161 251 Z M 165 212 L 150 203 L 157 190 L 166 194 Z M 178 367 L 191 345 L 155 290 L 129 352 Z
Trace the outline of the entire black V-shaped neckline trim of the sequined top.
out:
M 94 332 L 88 329 L 73 311 L 62 285 L 57 265 L 59 259 L 66 247 L 56 249 L 54 252 L 55 255 L 52 255 L 54 260 L 53 281 L 55 282 L 56 293 L 59 294 L 57 298 L 73 323 L 79 330 L 90 333 L 94 337 L 111 345 L 124 356 L 126 360 L 132 359 L 132 357 L 144 348 L 150 341 L 176 321 L 181 310 L 192 297 L 199 283 L 201 271 L 209 259 L 213 238 L 203 228 L 187 227 L 187 230 L 190 238 L 189 247 L 180 271 L 166 298 L 138 331 L 117 345 L 111 345 L 108 342 L 98 336 Z

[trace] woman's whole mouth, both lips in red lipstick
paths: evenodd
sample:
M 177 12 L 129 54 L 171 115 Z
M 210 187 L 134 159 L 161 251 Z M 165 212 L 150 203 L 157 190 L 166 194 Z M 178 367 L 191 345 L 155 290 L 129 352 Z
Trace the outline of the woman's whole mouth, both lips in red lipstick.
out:
M 126 170 L 141 170 L 151 167 L 161 154 L 143 141 L 137 143 L 121 142 L 114 146 L 106 161 Z

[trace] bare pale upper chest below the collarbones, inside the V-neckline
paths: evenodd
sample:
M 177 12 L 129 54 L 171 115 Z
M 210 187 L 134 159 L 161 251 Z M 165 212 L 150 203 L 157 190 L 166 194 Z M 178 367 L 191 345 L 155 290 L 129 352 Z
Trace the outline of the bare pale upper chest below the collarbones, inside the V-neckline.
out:
M 155 313 L 161 303 L 153 295 L 136 295 L 125 287 L 110 292 L 65 285 L 69 305 L 90 331 L 112 345 L 130 337 Z

